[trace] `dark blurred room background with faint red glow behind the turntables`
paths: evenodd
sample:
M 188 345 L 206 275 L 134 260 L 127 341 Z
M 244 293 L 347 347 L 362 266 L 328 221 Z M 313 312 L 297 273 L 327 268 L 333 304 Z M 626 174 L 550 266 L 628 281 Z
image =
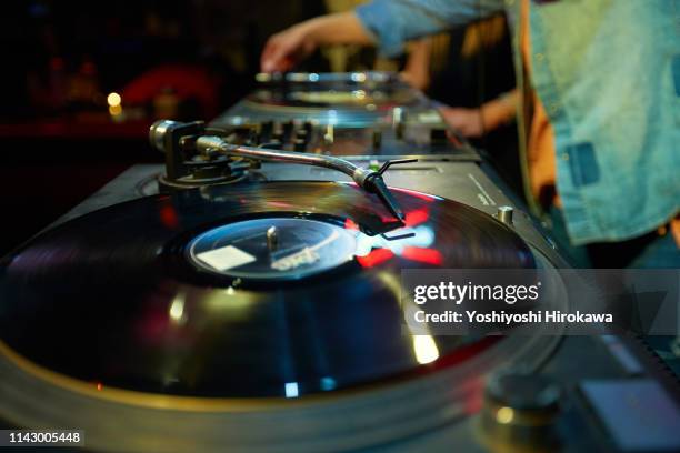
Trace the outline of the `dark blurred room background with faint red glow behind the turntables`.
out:
M 2 9 L 0 255 L 131 164 L 161 162 L 147 144 L 156 119 L 214 118 L 252 90 L 269 36 L 327 12 L 321 0 L 42 0 Z M 460 61 L 461 33 L 451 33 L 453 70 L 429 94 L 473 107 L 512 88 L 509 43 Z M 362 50 L 347 69 L 370 69 L 374 58 Z M 329 69 L 321 52 L 296 68 Z M 503 70 L 510 76 L 499 79 Z M 122 98 L 118 110 L 107 101 L 112 92 Z

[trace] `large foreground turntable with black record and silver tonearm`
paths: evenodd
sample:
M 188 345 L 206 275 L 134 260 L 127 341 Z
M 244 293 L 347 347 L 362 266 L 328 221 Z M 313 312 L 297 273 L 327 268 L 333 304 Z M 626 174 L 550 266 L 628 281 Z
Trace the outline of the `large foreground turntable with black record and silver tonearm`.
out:
M 568 266 L 484 162 L 451 142 L 427 159 L 270 147 L 261 127 L 156 123 L 164 167 L 2 259 L 6 427 L 117 452 L 680 445 L 677 383 L 634 339 L 408 329 L 403 270 Z M 660 427 L 630 436 L 636 414 Z

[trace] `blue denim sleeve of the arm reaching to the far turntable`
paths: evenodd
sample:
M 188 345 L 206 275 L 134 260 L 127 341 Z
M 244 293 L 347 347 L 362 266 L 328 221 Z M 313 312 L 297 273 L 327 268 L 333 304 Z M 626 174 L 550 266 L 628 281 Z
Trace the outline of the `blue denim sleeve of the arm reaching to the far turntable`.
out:
M 503 9 L 503 0 L 373 0 L 356 9 L 380 52 L 394 57 L 408 40 L 468 23 Z

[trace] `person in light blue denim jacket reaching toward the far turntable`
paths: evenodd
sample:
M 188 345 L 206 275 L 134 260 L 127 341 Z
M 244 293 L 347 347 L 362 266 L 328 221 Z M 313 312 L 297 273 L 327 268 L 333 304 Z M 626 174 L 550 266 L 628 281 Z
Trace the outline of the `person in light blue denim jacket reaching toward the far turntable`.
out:
M 318 46 L 340 42 L 393 56 L 407 40 L 503 10 L 514 33 L 530 209 L 571 244 L 577 265 L 678 268 L 674 2 L 374 0 L 272 36 L 261 69 L 287 71 Z

